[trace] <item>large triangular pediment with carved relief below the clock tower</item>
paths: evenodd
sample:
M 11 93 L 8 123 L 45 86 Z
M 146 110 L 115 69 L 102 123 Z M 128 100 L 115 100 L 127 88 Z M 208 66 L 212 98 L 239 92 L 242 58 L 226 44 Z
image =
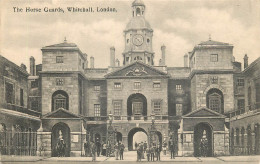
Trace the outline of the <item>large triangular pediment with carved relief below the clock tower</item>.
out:
M 166 73 L 153 68 L 142 62 L 135 62 L 126 67 L 123 67 L 119 70 L 107 74 L 106 78 L 115 78 L 115 77 L 154 77 L 162 76 L 168 77 Z

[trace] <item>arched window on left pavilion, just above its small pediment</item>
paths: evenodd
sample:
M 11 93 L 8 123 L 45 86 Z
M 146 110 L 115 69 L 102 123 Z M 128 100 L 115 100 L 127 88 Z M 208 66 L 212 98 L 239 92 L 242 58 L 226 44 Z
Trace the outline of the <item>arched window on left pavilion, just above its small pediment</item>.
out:
M 52 111 L 59 108 L 69 110 L 69 96 L 65 91 L 56 91 L 52 95 Z

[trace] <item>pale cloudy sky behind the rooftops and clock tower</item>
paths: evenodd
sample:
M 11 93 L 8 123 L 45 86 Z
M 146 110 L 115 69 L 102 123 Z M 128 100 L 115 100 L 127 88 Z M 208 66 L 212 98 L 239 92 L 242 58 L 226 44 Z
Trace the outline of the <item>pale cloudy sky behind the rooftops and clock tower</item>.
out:
M 95 67 L 109 65 L 109 49 L 116 48 L 122 64 L 123 30 L 131 19 L 133 0 L 2 0 L 0 54 L 14 63 L 34 56 L 41 63 L 41 48 L 63 42 L 75 43 L 95 57 Z M 251 63 L 260 56 L 260 0 L 143 0 L 146 19 L 154 30 L 155 64 L 166 45 L 166 64 L 183 66 L 183 55 L 201 41 L 234 45 L 234 56 Z M 115 7 L 117 13 L 69 13 L 66 7 Z M 65 13 L 14 13 L 13 7 L 62 7 Z

